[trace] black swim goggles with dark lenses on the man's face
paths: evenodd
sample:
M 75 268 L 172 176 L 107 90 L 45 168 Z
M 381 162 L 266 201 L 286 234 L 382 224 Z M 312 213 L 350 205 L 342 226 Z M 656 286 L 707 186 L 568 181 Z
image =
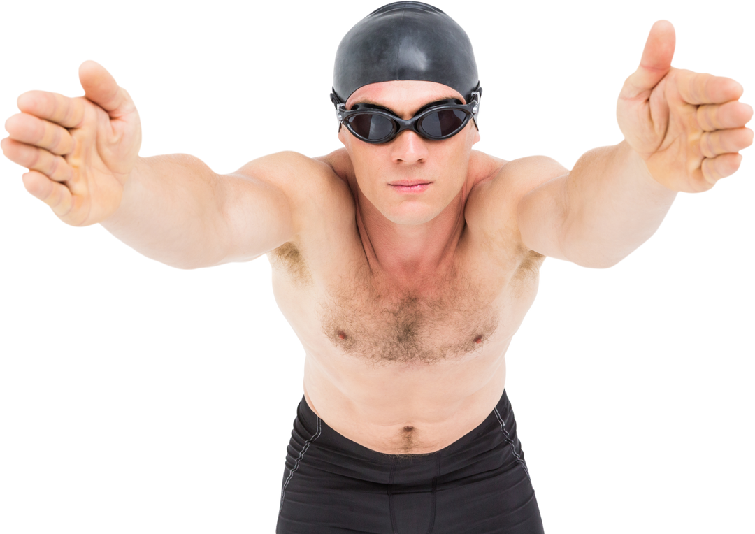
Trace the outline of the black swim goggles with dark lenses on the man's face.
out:
M 479 89 L 484 94 L 485 89 L 481 86 Z M 481 98 L 478 91 L 472 92 L 467 104 L 457 99 L 439 100 L 423 107 L 409 120 L 368 103 L 357 103 L 347 110 L 332 86 L 328 100 L 335 108 L 337 126 L 343 123 L 355 137 L 366 143 L 388 143 L 404 130 L 414 131 L 429 140 L 448 139 L 458 134 L 470 119 L 474 119 L 479 130 Z

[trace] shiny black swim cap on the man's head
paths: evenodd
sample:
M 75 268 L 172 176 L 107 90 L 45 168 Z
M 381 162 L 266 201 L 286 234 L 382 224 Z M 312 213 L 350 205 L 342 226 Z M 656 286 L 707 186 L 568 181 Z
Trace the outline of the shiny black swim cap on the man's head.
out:
M 479 130 L 482 80 L 474 44 L 461 23 L 436 5 L 388 2 L 354 23 L 333 54 L 331 91 L 346 103 L 364 85 L 393 80 L 436 82 L 467 103 L 479 93 L 474 116 Z M 331 102 L 334 104 L 334 102 Z

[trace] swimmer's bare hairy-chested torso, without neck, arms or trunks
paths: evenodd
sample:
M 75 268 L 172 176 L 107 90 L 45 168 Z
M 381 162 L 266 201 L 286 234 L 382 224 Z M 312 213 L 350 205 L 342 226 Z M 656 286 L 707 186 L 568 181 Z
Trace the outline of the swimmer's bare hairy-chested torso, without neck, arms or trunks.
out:
M 400 289 L 365 255 L 354 194 L 339 176 L 344 157 L 316 158 L 329 166 L 308 192 L 317 198 L 306 229 L 265 255 L 274 301 L 304 350 L 313 412 L 368 449 L 435 452 L 500 400 L 508 350 L 540 292 L 546 258 L 516 229 L 522 165 L 473 151 L 477 177 L 451 269 L 423 289 Z

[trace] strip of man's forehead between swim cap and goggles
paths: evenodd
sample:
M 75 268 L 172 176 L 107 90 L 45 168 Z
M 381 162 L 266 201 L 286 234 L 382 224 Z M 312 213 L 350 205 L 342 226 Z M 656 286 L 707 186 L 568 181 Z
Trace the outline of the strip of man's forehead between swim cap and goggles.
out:
M 371 103 L 385 106 L 392 110 L 417 110 L 426 103 L 458 98 L 464 102 L 464 97 L 458 91 L 436 82 L 420 82 L 414 80 L 397 80 L 363 85 L 353 92 L 346 103 L 347 110 L 354 103 Z

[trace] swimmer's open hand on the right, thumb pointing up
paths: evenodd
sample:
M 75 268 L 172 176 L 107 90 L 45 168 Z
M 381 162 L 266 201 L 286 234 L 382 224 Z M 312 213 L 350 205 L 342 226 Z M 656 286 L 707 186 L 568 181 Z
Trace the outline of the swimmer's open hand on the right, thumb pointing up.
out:
M 658 183 L 702 195 L 741 169 L 755 108 L 737 79 L 673 65 L 678 45 L 676 25 L 654 20 L 616 95 L 615 122 Z

